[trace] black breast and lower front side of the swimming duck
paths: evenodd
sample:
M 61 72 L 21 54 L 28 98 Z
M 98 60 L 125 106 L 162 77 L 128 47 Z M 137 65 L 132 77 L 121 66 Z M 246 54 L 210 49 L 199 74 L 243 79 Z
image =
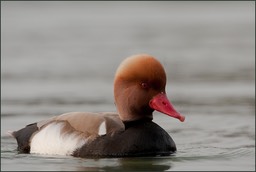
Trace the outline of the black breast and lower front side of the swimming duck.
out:
M 125 123 L 126 129 L 96 138 L 77 149 L 76 157 L 166 156 L 176 151 L 169 134 L 152 121 Z

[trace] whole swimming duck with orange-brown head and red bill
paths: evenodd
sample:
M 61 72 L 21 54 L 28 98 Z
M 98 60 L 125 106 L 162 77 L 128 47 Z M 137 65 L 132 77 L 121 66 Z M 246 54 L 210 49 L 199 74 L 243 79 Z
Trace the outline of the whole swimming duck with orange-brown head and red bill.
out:
M 114 77 L 117 112 L 68 112 L 26 125 L 10 134 L 19 153 L 81 158 L 168 156 L 171 136 L 153 122 L 158 111 L 183 122 L 167 98 L 166 72 L 155 57 L 125 58 Z

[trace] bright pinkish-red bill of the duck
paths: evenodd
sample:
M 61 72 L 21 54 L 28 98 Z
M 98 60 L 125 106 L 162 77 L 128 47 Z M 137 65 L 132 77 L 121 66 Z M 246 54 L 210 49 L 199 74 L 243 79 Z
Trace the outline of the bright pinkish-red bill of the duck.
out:
M 185 121 L 185 116 L 181 115 L 174 109 L 165 93 L 160 93 L 153 97 L 149 102 L 149 106 L 152 109 L 162 112 L 170 117 L 177 118 L 181 122 Z

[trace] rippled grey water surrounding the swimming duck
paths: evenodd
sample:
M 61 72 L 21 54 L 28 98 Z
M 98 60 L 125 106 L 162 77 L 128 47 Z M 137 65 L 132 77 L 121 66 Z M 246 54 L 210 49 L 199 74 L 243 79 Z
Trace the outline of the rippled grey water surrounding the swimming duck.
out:
M 1 170 L 255 170 L 255 2 L 1 2 Z M 115 111 L 118 64 L 145 52 L 184 123 L 155 113 L 169 157 L 18 154 L 6 135 L 70 111 Z

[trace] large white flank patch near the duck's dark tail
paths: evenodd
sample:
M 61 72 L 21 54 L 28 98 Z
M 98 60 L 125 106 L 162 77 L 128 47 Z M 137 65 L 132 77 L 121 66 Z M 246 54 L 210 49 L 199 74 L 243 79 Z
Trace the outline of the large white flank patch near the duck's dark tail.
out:
M 86 139 L 79 137 L 76 132 L 61 135 L 64 126 L 65 123 L 54 122 L 35 134 L 31 140 L 30 153 L 71 155 L 86 143 Z

